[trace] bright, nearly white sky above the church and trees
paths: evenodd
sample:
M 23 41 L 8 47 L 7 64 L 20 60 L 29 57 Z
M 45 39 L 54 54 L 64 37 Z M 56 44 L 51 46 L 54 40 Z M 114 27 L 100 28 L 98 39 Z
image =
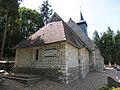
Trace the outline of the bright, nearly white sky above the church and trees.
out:
M 20 6 L 38 10 L 42 3 L 43 0 L 23 0 Z M 70 17 L 78 22 L 81 10 L 91 39 L 95 30 L 99 34 L 108 27 L 114 32 L 120 30 L 120 0 L 49 0 L 49 3 L 66 23 Z

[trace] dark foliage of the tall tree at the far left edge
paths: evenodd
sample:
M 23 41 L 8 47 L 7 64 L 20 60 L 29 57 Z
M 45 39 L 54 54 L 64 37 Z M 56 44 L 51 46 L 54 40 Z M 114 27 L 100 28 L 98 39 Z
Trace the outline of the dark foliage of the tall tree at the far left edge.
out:
M 0 28 L 1 28 L 1 37 L 0 45 L 1 47 L 1 58 L 3 56 L 4 46 L 6 40 L 6 35 L 11 34 L 13 30 L 17 28 L 16 19 L 19 16 L 18 7 L 19 1 L 21 0 L 0 0 Z

